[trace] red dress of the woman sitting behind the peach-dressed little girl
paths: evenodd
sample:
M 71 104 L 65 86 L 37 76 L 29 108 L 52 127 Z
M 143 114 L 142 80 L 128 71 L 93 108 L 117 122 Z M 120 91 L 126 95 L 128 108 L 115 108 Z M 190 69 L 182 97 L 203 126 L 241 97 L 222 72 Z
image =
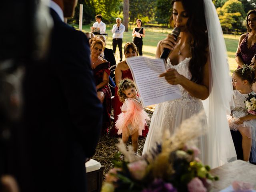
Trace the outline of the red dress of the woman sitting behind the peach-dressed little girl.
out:
M 122 79 L 124 79 L 124 78 L 130 78 L 131 80 L 133 80 L 132 73 L 131 73 L 130 69 L 122 71 Z M 120 102 L 120 100 L 119 100 L 119 96 L 118 96 L 117 92 L 118 92 L 118 88 L 116 86 L 115 96 L 112 100 L 112 106 L 113 106 L 113 109 L 114 109 L 114 122 L 113 122 L 112 129 L 110 130 L 110 134 L 112 136 L 116 136 L 116 137 L 118 137 L 120 135 L 117 134 L 118 129 L 116 128 L 115 123 L 116 123 L 116 120 L 118 118 L 118 115 L 122 112 L 121 107 L 123 105 L 123 103 Z M 142 136 L 146 137 L 147 134 L 148 134 L 148 126 L 145 125 L 145 130 L 142 131 Z

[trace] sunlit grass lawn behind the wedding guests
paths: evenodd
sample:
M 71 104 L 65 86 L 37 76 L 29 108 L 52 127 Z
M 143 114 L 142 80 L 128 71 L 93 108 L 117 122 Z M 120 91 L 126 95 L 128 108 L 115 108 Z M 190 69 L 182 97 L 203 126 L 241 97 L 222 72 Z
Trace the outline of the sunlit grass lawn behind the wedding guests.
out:
M 78 28 L 78 25 L 73 25 L 74 28 Z M 143 48 L 142 52 L 144 56 L 154 58 L 156 53 L 156 45 L 158 41 L 162 40 L 166 37 L 168 33 L 171 33 L 170 29 L 165 28 L 145 28 L 146 29 L 146 36 L 143 38 Z M 112 48 L 112 26 L 107 26 L 106 33 L 108 34 L 108 41 L 107 41 L 107 47 Z M 83 26 L 84 32 L 90 32 L 90 25 Z M 226 43 L 227 48 L 227 54 L 228 54 L 228 64 L 230 67 L 230 73 L 232 73 L 237 68 L 237 63 L 234 59 L 236 49 L 238 46 L 238 35 L 228 35 L 224 34 L 224 39 Z M 126 42 L 132 41 L 132 28 L 128 32 L 124 32 L 124 38 L 123 38 L 123 45 Z M 123 56 L 124 58 L 124 56 Z M 119 61 L 119 50 L 118 47 L 116 48 L 116 60 Z

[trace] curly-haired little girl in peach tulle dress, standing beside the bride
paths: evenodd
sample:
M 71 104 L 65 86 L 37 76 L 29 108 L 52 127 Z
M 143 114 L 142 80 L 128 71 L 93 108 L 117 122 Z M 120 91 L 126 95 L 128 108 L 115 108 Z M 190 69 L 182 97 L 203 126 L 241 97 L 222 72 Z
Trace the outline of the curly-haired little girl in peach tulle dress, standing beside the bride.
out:
M 129 136 L 132 136 L 132 147 L 134 153 L 138 150 L 138 136 L 142 135 L 146 119 L 150 120 L 148 114 L 143 110 L 140 97 L 132 80 L 126 78 L 119 82 L 118 96 L 122 105 L 122 113 L 118 115 L 116 128 L 118 134 L 122 133 L 122 141 L 126 144 Z

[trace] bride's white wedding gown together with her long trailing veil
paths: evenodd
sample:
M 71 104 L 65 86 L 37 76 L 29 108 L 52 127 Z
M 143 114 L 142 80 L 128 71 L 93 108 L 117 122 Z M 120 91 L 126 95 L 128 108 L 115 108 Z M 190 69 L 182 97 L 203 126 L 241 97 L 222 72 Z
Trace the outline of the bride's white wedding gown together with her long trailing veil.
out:
M 204 108 L 207 123 L 206 134 L 200 137 L 198 147 L 201 150 L 201 160 L 211 168 L 216 168 L 232 160 L 236 160 L 236 151 L 230 134 L 226 114 L 230 114 L 232 101 L 232 83 L 227 62 L 226 45 L 216 8 L 212 0 L 204 0 L 204 14 L 207 25 L 209 45 L 209 97 L 203 101 L 188 94 L 180 85 L 182 98 L 158 104 L 151 119 L 150 129 L 143 153 L 149 152 L 155 143 L 162 142 L 164 130 L 175 132 L 180 123 Z M 176 69 L 180 74 L 190 79 L 188 69 L 190 58 L 186 58 L 176 66 L 168 60 L 168 68 Z

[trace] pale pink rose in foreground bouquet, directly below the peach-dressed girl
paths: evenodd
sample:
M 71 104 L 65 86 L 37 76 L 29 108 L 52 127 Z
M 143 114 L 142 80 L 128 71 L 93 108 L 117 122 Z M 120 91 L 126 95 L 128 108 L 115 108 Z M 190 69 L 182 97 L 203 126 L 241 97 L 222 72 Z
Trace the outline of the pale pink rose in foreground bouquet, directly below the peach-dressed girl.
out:
M 144 160 L 139 160 L 139 161 L 129 163 L 127 166 L 128 166 L 128 169 L 129 169 L 131 175 L 135 179 L 141 180 L 146 174 L 146 168 L 147 168 L 148 164 Z

